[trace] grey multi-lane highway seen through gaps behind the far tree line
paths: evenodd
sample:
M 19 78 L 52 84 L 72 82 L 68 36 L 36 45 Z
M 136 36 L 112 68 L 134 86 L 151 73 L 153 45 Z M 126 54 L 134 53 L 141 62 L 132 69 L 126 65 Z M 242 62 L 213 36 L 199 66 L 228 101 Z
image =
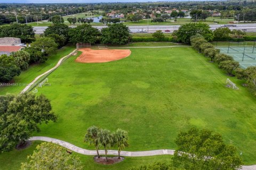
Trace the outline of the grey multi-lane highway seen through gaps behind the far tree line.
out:
M 231 30 L 237 29 L 237 30 L 244 30 L 245 32 L 256 32 L 256 23 L 246 23 L 246 24 L 235 24 L 237 25 L 236 27 L 229 27 Z M 98 29 L 102 29 L 107 26 L 93 26 Z M 178 30 L 180 25 L 128 25 L 129 29 L 131 30 L 138 30 L 138 29 L 145 29 L 146 31 L 148 30 L 149 33 L 153 33 L 156 30 L 170 30 L 170 33 L 173 32 L 174 30 Z M 221 27 L 220 24 L 210 24 L 210 29 L 214 30 L 216 28 Z M 36 34 L 42 34 L 44 33 L 44 30 L 47 27 L 34 27 L 34 31 Z M 147 32 L 145 32 L 147 33 Z M 166 32 L 167 33 L 167 32 Z

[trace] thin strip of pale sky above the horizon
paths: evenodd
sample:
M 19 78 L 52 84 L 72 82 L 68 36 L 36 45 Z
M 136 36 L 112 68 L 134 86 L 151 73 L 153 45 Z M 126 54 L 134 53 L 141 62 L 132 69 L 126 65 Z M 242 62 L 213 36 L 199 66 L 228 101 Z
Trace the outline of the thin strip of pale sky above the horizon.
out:
M 170 0 L 0 0 L 0 3 L 107 3 L 107 2 L 157 2 Z M 172 0 L 188 1 L 188 0 Z M 200 1 L 200 0 L 199 0 Z

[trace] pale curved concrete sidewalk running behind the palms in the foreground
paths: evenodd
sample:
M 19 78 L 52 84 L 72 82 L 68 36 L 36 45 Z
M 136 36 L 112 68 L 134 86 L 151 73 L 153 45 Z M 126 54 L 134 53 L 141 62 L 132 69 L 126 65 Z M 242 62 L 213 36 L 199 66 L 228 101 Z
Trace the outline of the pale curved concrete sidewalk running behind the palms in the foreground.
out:
M 63 140 L 54 139 L 50 137 L 31 137 L 28 140 L 40 140 L 45 142 L 52 142 L 56 143 L 62 147 L 65 147 L 69 150 L 77 152 L 83 155 L 97 155 L 95 150 L 87 150 L 83 148 L 79 148 L 75 145 L 72 145 L 69 142 L 65 142 Z M 148 150 L 148 151 L 121 151 L 121 156 L 128 156 L 128 157 L 139 157 L 139 156 L 155 156 L 155 155 L 173 155 L 175 150 L 172 149 L 158 149 L 158 150 Z M 99 150 L 100 155 L 105 155 L 104 150 Z M 108 150 L 108 155 L 118 155 L 117 150 Z M 256 170 L 256 165 L 251 166 L 242 166 L 242 170 Z

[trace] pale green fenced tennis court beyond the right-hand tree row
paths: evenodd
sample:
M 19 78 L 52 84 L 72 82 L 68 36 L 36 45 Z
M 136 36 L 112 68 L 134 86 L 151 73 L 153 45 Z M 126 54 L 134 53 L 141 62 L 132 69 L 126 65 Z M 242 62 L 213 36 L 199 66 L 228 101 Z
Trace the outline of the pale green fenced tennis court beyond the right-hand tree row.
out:
M 256 66 L 255 46 L 219 46 L 216 48 L 220 49 L 220 53 L 232 56 L 244 69 L 249 66 Z

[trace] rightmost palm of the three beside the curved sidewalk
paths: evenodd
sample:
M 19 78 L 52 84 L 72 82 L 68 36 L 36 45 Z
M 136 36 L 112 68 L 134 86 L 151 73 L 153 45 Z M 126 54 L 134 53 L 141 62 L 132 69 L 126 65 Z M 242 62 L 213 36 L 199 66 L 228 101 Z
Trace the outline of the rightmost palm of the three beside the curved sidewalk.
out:
M 117 129 L 116 132 L 114 132 L 114 140 L 118 147 L 118 159 L 120 159 L 121 149 L 129 146 L 127 132 L 122 129 Z

